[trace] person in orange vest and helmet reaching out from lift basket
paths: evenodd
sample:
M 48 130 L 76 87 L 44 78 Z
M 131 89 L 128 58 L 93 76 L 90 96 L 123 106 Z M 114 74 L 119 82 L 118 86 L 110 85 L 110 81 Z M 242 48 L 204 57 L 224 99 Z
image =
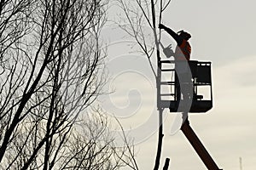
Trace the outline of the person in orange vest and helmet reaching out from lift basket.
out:
M 193 98 L 193 84 L 191 80 L 191 73 L 189 74 L 190 71 L 187 63 L 187 61 L 189 61 L 190 59 L 191 54 L 191 46 L 188 42 L 191 35 L 186 31 L 178 31 L 176 33 L 172 31 L 171 28 L 168 28 L 162 24 L 159 25 L 159 28 L 164 29 L 177 42 L 177 46 L 174 53 L 174 59 L 178 106 L 181 100 L 181 94 L 183 95 L 184 102 L 188 102 L 189 99 Z

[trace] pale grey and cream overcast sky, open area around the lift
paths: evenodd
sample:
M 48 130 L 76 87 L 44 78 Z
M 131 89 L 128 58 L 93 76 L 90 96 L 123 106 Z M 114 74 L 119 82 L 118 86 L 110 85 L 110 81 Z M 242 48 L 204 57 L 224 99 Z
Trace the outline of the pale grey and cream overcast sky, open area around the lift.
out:
M 239 170 L 239 157 L 243 170 L 256 169 L 255 7 L 254 0 L 172 0 L 163 15 L 166 26 L 191 33 L 191 59 L 212 61 L 213 108 L 207 114 L 189 116 L 189 120 L 218 167 L 224 170 Z M 162 34 L 168 45 L 168 35 Z M 108 69 L 113 73 L 109 84 L 114 93 L 110 96 L 112 104 L 106 102 L 103 106 L 107 111 L 113 105 L 119 108 L 111 111 L 123 117 L 121 122 L 137 138 L 140 169 L 152 169 L 158 122 L 154 77 L 147 59 L 129 53 L 129 39 L 111 41 Z M 176 115 L 166 110 L 165 116 L 161 167 L 170 157 L 170 169 L 207 169 L 183 133 L 170 135 Z

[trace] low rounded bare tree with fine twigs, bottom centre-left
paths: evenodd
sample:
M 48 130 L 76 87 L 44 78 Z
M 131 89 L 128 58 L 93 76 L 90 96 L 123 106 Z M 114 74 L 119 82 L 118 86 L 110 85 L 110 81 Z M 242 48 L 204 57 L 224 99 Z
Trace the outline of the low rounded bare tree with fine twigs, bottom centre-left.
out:
M 63 150 L 60 169 L 119 169 L 129 166 L 135 169 L 130 155 L 131 145 L 115 147 L 115 136 L 108 131 L 109 120 L 100 112 L 87 114 L 79 123 Z M 126 138 L 126 137 L 125 137 Z M 128 144 L 125 143 L 124 144 Z

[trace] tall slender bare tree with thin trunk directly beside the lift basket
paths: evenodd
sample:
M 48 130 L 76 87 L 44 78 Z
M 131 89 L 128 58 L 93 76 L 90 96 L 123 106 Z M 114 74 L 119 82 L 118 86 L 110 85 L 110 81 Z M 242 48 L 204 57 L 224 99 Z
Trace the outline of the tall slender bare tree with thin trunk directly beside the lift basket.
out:
M 160 24 L 162 13 L 171 3 L 171 0 L 116 0 L 119 8 L 122 9 L 124 18 L 121 18 L 117 24 L 129 36 L 136 40 L 138 47 L 143 55 L 148 58 L 148 64 L 153 71 L 156 88 L 159 111 L 159 136 L 158 147 L 155 157 L 154 170 L 160 167 L 160 155 L 163 139 L 163 108 L 160 108 L 160 31 L 157 27 Z M 148 29 L 149 28 L 149 29 Z M 149 38 L 148 38 L 149 37 Z M 150 38 L 152 37 L 152 38 Z M 155 50 L 156 49 L 156 50 Z M 154 55 L 155 52 L 155 55 Z M 154 56 L 154 57 L 153 57 Z M 153 66 L 153 59 L 156 58 L 156 69 Z M 167 165 L 167 163 L 166 163 Z M 165 167 L 167 168 L 167 167 Z

